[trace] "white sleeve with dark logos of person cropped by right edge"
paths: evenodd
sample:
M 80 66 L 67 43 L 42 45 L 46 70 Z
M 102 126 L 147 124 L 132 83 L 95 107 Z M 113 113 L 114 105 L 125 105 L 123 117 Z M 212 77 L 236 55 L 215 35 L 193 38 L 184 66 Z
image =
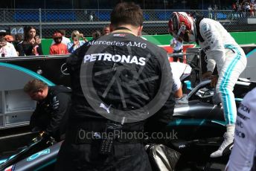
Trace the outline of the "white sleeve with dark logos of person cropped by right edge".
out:
M 251 170 L 256 152 L 256 88 L 249 91 L 237 110 L 234 147 L 226 167 L 228 171 Z

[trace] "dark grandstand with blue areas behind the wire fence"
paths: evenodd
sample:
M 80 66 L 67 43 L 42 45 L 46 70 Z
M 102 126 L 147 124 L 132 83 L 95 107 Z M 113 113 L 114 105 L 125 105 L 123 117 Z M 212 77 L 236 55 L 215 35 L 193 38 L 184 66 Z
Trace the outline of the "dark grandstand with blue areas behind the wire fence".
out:
M 119 0 L 120 1 L 120 0 Z M 25 27 L 33 25 L 43 38 L 51 37 L 57 29 L 65 29 L 67 36 L 72 30 L 80 30 L 85 36 L 92 36 L 95 30 L 101 30 L 109 24 L 112 7 L 118 0 L 42 0 L 42 1 L 4 1 L 0 4 L 0 26 L 10 30 L 13 27 Z M 182 2 L 182 3 L 181 3 Z M 191 9 L 197 10 L 203 16 L 208 17 L 208 5 L 210 0 L 202 0 L 202 3 L 178 0 L 143 0 L 135 1 L 144 9 L 144 34 L 167 33 L 167 22 L 173 11 Z M 227 9 L 231 1 L 214 1 L 220 7 Z M 221 9 L 221 8 L 220 8 Z M 89 16 L 93 16 L 93 22 Z M 213 13 L 215 19 L 221 22 L 228 31 L 255 30 L 255 19 L 252 17 L 240 17 L 232 10 L 217 10 Z M 250 23 L 250 24 L 248 24 Z

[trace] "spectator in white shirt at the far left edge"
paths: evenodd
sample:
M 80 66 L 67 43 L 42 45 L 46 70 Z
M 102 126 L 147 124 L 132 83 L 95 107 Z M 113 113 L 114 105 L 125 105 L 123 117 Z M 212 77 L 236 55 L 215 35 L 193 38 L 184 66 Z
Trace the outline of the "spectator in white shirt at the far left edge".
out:
M 0 38 L 0 55 L 1 57 L 18 57 L 13 44 L 7 42 L 4 37 Z

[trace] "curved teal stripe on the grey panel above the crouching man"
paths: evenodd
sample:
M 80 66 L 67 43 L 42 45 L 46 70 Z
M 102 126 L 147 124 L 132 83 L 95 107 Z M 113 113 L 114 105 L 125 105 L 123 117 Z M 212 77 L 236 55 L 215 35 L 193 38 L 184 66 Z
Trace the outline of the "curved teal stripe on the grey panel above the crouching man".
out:
M 27 68 L 23 68 L 21 66 L 18 66 L 18 65 L 13 65 L 13 64 L 10 64 L 10 63 L 4 63 L 4 62 L 0 62 L 0 66 L 4 66 L 4 67 L 7 67 L 7 68 L 13 68 L 13 69 L 16 69 L 18 71 L 22 71 L 26 74 L 29 74 L 31 75 L 32 77 L 34 77 L 35 79 L 38 79 L 38 80 L 42 80 L 44 83 L 46 83 L 48 86 L 55 86 L 54 83 L 52 83 L 50 80 L 46 79 L 45 77 L 42 77 L 41 75 L 27 69 Z

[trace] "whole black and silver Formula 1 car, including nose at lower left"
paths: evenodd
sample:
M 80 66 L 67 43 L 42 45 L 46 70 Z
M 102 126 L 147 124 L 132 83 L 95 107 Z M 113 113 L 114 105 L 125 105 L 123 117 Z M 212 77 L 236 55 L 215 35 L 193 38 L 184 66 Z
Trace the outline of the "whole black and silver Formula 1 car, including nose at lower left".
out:
M 167 124 L 165 132 L 174 132 L 176 136 L 162 143 L 181 154 L 176 170 L 208 170 L 216 166 L 220 169 L 228 161 L 230 150 L 222 158 L 209 158 L 222 143 L 225 132 L 223 109 L 221 104 L 212 102 L 214 89 L 209 83 L 210 80 L 202 81 L 177 102 L 173 120 Z M 248 80 L 237 82 L 234 88 L 237 105 L 252 87 L 255 83 Z M 50 143 L 51 146 L 37 138 L 36 142 L 0 164 L 0 170 L 53 170 L 62 142 Z

